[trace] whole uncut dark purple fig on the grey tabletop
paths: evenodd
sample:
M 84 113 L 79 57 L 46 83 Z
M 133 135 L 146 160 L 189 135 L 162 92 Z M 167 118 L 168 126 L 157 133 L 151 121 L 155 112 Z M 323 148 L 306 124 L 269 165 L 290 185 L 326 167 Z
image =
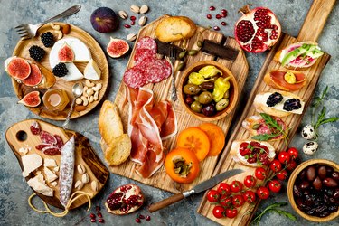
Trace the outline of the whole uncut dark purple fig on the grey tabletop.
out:
M 90 23 L 99 33 L 109 33 L 118 28 L 118 16 L 108 7 L 99 7 L 90 15 Z

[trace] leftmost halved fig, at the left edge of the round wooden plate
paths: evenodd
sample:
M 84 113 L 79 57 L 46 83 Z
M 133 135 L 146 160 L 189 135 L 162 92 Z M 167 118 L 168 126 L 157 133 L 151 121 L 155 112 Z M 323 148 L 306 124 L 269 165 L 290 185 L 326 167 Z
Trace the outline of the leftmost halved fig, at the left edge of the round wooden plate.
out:
M 5 65 L 5 69 L 10 76 L 17 80 L 27 79 L 31 74 L 30 63 L 21 57 L 12 57 L 8 65 Z

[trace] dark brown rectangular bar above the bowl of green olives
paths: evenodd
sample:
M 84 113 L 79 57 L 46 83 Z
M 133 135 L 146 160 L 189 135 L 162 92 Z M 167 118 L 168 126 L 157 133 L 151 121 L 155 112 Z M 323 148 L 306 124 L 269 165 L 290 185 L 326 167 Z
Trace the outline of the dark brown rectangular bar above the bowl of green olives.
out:
M 239 51 L 205 39 L 202 42 L 202 52 L 215 55 L 228 61 L 235 61 Z

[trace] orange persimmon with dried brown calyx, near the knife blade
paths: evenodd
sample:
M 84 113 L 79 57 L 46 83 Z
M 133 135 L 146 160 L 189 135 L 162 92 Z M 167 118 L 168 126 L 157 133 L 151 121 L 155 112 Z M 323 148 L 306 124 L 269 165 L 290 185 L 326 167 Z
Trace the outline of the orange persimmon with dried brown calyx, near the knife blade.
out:
M 199 160 L 190 150 L 178 147 L 166 155 L 165 169 L 175 182 L 191 183 L 199 174 Z

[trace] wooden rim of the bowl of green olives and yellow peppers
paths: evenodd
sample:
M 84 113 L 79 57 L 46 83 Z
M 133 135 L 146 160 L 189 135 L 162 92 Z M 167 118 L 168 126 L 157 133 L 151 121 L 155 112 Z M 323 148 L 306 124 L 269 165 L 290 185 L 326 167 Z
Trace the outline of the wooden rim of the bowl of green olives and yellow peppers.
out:
M 217 114 L 215 114 L 212 117 L 204 116 L 202 113 L 194 112 L 185 102 L 184 102 L 184 85 L 187 83 L 188 76 L 192 72 L 197 72 L 200 69 L 202 69 L 204 66 L 212 65 L 218 68 L 220 71 L 222 71 L 222 77 L 228 77 L 230 76 L 231 79 L 229 80 L 231 83 L 230 88 L 230 98 L 229 98 L 229 105 L 227 108 L 224 108 L 221 111 L 218 111 Z M 179 99 L 182 101 L 182 104 L 184 105 L 185 110 L 191 114 L 193 117 L 198 118 L 202 121 L 214 121 L 219 120 L 221 118 L 225 118 L 230 112 L 233 110 L 233 108 L 236 106 L 239 96 L 239 90 L 238 90 L 238 82 L 235 80 L 234 75 L 231 73 L 231 71 L 226 68 L 224 65 L 222 65 L 219 62 L 216 61 L 199 61 L 193 63 L 191 66 L 189 66 L 183 73 L 182 78 L 179 83 Z

